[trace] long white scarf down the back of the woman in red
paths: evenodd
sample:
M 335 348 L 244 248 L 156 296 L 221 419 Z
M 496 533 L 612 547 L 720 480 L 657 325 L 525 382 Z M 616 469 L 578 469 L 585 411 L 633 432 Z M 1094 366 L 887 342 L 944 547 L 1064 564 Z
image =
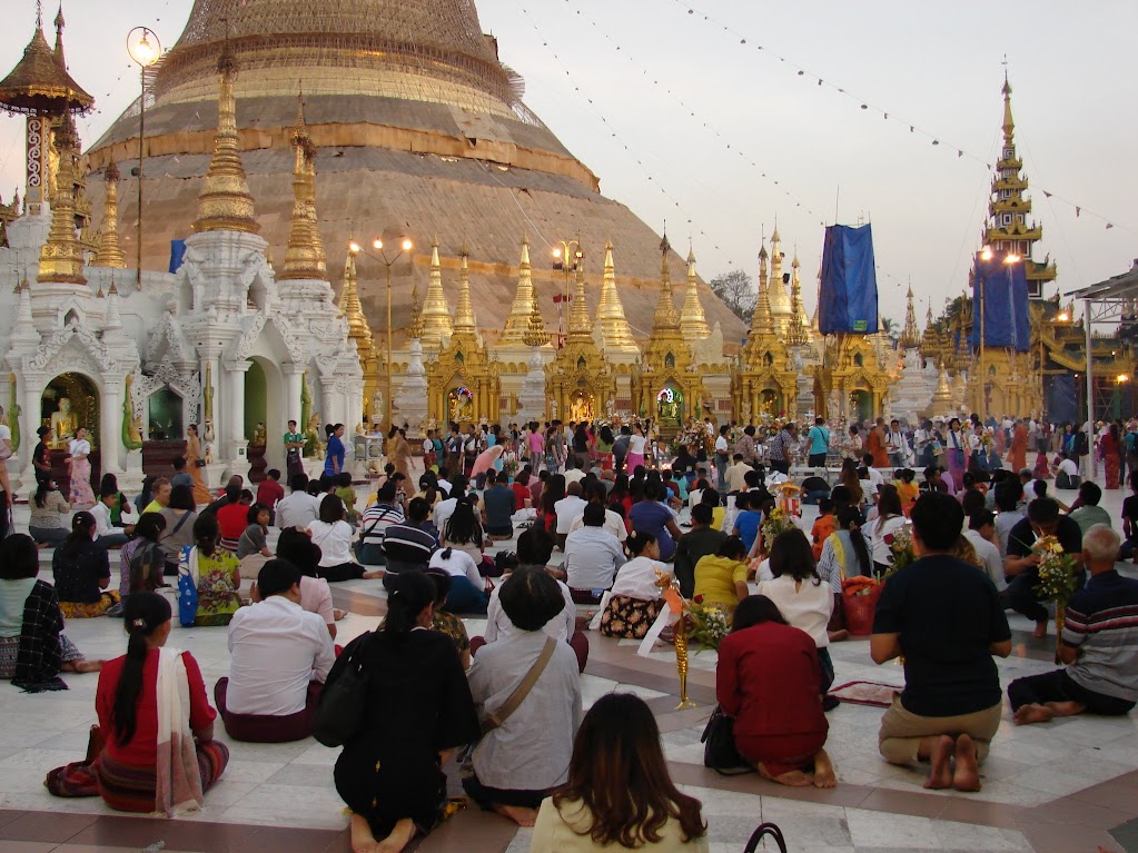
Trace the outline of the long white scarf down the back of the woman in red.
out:
M 173 818 L 201 806 L 201 772 L 190 730 L 190 681 L 182 653 L 158 649 L 158 767 L 155 811 Z

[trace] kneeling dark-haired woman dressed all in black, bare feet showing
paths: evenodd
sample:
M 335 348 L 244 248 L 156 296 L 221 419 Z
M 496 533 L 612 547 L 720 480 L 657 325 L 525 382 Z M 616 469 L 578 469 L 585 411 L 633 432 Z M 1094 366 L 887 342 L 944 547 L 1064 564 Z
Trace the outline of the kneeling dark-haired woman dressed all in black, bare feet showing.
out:
M 336 761 L 336 790 L 352 810 L 352 848 L 397 853 L 443 818 L 454 750 L 481 734 L 459 653 L 432 631 L 437 588 L 402 572 L 381 630 L 348 644 L 324 689 L 358 656 L 368 673 L 363 727 Z M 397 689 L 393 689 L 397 686 Z

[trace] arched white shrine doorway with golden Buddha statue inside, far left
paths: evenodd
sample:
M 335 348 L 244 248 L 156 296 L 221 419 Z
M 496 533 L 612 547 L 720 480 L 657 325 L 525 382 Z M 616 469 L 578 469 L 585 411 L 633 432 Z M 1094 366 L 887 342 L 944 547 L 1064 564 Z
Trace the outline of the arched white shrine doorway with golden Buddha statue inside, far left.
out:
M 48 382 L 40 397 L 40 425 L 50 426 L 51 475 L 66 497 L 71 492 L 72 470 L 67 465 L 68 447 L 79 429 L 86 430 L 91 444 L 91 487 L 98 494 L 101 479 L 101 454 L 104 440 L 116 441 L 114 436 L 99 434 L 99 388 L 90 376 L 82 373 L 60 373 Z

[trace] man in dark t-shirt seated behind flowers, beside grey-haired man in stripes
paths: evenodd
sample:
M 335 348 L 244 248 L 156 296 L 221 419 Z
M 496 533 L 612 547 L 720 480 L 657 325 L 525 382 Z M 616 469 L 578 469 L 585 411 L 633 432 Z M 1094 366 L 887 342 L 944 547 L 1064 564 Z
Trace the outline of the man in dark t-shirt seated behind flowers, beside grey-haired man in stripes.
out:
M 1036 540 L 1054 536 L 1065 554 L 1079 561 L 1082 573 L 1082 530 L 1069 515 L 1059 514 L 1059 505 L 1052 498 L 1036 498 L 1028 504 L 1028 517 L 1016 523 L 1007 536 L 1007 556 L 1004 574 L 1009 578 L 1007 589 L 1000 593 L 1004 607 L 1022 613 L 1034 621 L 1037 638 L 1047 636 L 1047 607 L 1039 603 L 1039 554 L 1032 550 Z M 1080 577 L 1080 586 L 1082 578 Z

